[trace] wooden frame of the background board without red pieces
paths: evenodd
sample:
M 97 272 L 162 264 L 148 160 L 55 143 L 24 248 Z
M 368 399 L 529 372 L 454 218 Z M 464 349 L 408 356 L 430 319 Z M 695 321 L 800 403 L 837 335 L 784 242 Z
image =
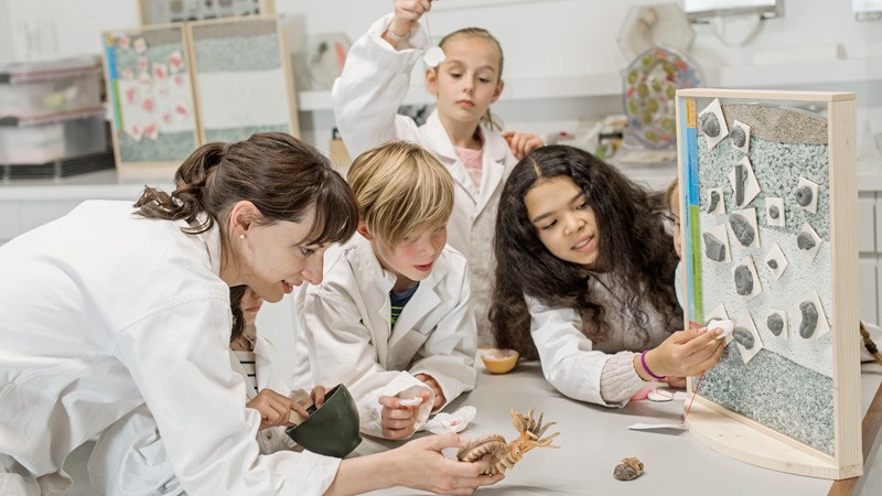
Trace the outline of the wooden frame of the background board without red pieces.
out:
M 250 15 L 245 18 L 225 18 L 225 19 L 217 19 L 211 21 L 200 21 L 200 22 L 191 22 L 186 23 L 186 37 L 187 37 L 187 46 L 190 50 L 190 61 L 192 64 L 192 75 L 193 75 L 193 88 L 196 98 L 196 111 L 198 115 L 198 137 L 202 143 L 207 143 L 209 141 L 215 141 L 211 139 L 211 137 L 206 136 L 206 129 L 211 127 L 211 118 L 206 116 L 206 101 L 205 95 L 203 93 L 203 88 L 201 83 L 204 83 L 204 75 L 201 74 L 201 65 L 198 60 L 198 43 L 200 40 L 204 36 L 205 39 L 222 39 L 225 36 L 229 36 L 230 33 L 250 33 L 250 32 L 258 32 L 263 33 L 267 26 L 272 26 L 275 32 L 275 36 L 277 40 L 277 47 L 278 53 L 276 56 L 279 60 L 279 67 L 281 71 L 280 80 L 281 85 L 283 85 L 283 90 L 280 91 L 279 95 L 281 98 L 277 100 L 278 106 L 283 106 L 286 108 L 286 120 L 284 123 L 284 131 L 289 132 L 294 137 L 300 136 L 300 123 L 298 120 L 297 114 L 297 93 L 294 88 L 294 78 L 291 65 L 291 56 L 289 53 L 288 42 L 286 37 L 284 26 L 282 22 L 282 18 L 279 15 Z M 277 82 L 279 83 L 279 82 Z M 265 97 L 263 91 L 257 89 L 251 93 L 251 95 L 260 95 L 261 98 Z M 244 96 L 244 94 L 237 94 L 237 103 Z M 259 114 L 259 112 L 254 112 Z M 280 131 L 282 129 L 279 129 Z M 248 136 L 239 136 L 237 139 L 246 139 Z M 232 140 L 225 140 L 232 141 Z

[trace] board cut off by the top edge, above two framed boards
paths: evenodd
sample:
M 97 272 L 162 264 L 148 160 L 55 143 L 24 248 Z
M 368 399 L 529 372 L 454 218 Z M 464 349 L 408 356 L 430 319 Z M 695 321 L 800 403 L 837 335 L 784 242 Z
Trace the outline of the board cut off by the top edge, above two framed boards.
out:
M 141 25 L 271 14 L 275 0 L 139 0 Z

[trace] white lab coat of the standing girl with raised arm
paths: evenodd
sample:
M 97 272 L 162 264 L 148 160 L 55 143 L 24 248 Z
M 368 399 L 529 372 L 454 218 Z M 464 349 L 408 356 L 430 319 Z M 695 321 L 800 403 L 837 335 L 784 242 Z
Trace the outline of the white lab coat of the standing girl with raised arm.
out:
M 412 48 L 396 51 L 380 37 L 390 21 L 391 15 L 387 15 L 375 22 L 346 55 L 343 74 L 332 90 L 337 128 L 353 157 L 397 139 L 426 148 L 448 168 L 456 186 L 448 242 L 469 260 L 478 341 L 493 344 L 487 311 L 495 263 L 496 207 L 517 160 L 499 131 L 482 123 L 484 163 L 477 192 L 437 110 L 420 127 L 411 118 L 397 115 L 410 87 L 413 65 L 431 44 L 426 31 L 419 29 L 409 40 Z

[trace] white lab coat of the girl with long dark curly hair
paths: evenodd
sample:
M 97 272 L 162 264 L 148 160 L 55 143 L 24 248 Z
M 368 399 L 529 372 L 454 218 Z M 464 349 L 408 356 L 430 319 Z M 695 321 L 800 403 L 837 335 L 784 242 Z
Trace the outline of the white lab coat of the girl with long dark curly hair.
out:
M 610 337 L 602 344 L 595 344 L 582 334 L 582 319 L 569 308 L 551 308 L 539 299 L 525 295 L 530 313 L 530 335 L 539 352 L 542 374 L 563 395 L 606 407 L 622 407 L 621 403 L 607 403 L 601 397 L 601 374 L 612 354 L 622 351 L 641 352 L 644 348 L 658 346 L 670 336 L 678 323 L 664 322 L 662 315 L 646 303 L 643 311 L 649 319 L 648 343 L 636 332 L 634 317 L 622 309 L 625 298 L 622 287 L 606 276 L 598 276 L 589 281 L 590 291 L 607 301 L 605 317 L 611 324 Z M 610 290 L 616 292 L 612 294 Z M 634 375 L 637 376 L 636 370 Z

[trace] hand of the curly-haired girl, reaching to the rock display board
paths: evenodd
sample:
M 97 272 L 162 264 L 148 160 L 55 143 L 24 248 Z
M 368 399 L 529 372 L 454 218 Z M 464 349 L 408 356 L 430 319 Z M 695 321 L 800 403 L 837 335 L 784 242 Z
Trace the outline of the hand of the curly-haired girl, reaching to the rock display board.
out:
M 708 332 L 707 327 L 677 331 L 644 357 L 646 366 L 656 376 L 676 378 L 698 376 L 720 362 L 725 339 L 717 336 L 722 330 Z M 634 369 L 644 380 L 653 378 L 644 370 L 639 355 L 634 357 Z

